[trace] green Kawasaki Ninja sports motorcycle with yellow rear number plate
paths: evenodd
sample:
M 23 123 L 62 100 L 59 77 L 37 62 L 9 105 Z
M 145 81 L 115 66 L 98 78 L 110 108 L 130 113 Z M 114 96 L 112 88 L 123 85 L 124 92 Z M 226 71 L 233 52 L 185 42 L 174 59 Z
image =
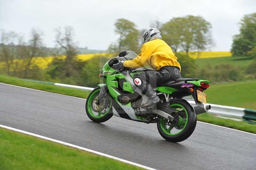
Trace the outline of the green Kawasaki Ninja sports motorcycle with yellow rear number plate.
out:
M 138 88 L 139 80 L 133 79 L 138 73 L 152 71 L 149 68 L 118 68 L 118 62 L 137 57 L 133 51 L 119 54 L 116 63 L 109 60 L 102 69 L 100 77 L 104 84 L 93 89 L 86 101 L 86 113 L 94 122 L 105 122 L 113 115 L 129 120 L 156 123 L 160 135 L 170 142 L 186 140 L 196 128 L 196 115 L 211 109 L 206 104 L 203 92 L 209 87 L 209 81 L 178 78 L 156 87 L 160 102 L 156 106 L 143 109 L 141 104 L 148 97 Z M 196 106 L 182 99 L 192 96 Z

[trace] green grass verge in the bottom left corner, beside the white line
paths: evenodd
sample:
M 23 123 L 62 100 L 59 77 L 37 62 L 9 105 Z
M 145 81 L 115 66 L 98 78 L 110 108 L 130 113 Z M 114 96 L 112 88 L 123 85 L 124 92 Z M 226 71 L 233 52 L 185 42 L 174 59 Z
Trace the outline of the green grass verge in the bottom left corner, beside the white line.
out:
M 114 159 L 0 128 L 0 169 L 142 169 Z

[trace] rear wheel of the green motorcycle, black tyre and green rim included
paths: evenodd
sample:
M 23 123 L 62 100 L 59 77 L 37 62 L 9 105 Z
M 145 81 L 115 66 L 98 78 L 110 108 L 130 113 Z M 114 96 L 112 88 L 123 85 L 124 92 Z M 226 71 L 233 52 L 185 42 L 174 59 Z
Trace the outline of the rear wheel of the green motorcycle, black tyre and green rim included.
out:
M 170 107 L 177 110 L 172 113 L 172 116 L 176 117 L 176 122 L 160 117 L 157 120 L 158 132 L 167 141 L 184 141 L 196 128 L 196 113 L 190 104 L 183 100 L 171 101 Z

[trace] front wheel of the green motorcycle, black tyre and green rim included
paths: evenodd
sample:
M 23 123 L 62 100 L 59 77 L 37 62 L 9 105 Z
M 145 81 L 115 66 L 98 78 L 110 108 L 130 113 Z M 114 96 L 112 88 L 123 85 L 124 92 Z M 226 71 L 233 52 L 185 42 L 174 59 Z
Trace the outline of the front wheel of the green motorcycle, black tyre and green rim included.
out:
M 99 97 L 100 87 L 97 87 L 92 90 L 89 94 L 85 109 L 87 116 L 94 122 L 102 123 L 109 120 L 112 116 L 112 100 L 109 96 L 103 98 L 99 105 L 95 104 L 95 101 Z

